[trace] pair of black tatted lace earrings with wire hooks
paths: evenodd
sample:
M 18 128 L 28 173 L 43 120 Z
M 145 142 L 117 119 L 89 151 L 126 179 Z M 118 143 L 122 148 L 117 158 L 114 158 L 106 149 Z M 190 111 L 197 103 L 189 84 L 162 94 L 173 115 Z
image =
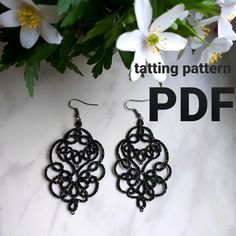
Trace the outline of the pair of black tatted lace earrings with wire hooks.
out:
M 69 107 L 75 111 L 75 128 L 52 145 L 45 176 L 52 195 L 68 203 L 68 210 L 74 214 L 79 203 L 87 202 L 96 194 L 99 181 L 105 176 L 105 168 L 102 165 L 103 146 L 82 128 L 79 110 L 71 105 L 72 101 L 98 106 L 79 99 L 70 100 Z M 171 176 L 166 146 L 144 126 L 141 114 L 127 105 L 128 102 L 144 101 L 147 100 L 129 100 L 125 103 L 125 108 L 137 117 L 137 124 L 117 145 L 114 166 L 118 189 L 135 199 L 141 212 L 148 201 L 165 194 L 166 181 Z

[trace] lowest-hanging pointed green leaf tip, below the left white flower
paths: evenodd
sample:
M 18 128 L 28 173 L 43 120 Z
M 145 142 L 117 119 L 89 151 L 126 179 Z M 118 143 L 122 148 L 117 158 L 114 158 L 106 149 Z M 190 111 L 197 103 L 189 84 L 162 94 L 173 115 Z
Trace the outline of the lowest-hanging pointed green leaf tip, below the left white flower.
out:
M 40 69 L 40 63 L 36 62 L 35 64 L 26 64 L 24 79 L 26 82 L 26 88 L 28 89 L 29 95 L 34 96 L 34 86 L 35 81 L 38 80 L 38 71 Z

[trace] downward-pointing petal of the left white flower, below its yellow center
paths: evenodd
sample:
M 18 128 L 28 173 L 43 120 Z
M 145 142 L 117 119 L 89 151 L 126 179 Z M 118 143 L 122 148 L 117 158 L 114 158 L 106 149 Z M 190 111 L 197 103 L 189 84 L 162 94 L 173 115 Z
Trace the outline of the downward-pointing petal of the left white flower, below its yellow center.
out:
M 31 48 L 37 42 L 39 38 L 39 33 L 36 29 L 24 30 L 21 28 L 20 31 L 20 42 L 23 48 Z

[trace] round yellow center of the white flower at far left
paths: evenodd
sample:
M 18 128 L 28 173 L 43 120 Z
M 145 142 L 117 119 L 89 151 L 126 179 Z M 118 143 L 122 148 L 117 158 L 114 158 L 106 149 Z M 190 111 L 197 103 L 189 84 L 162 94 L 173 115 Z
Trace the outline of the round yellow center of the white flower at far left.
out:
M 40 17 L 32 9 L 22 8 L 17 11 L 17 17 L 24 30 L 36 29 L 40 23 Z

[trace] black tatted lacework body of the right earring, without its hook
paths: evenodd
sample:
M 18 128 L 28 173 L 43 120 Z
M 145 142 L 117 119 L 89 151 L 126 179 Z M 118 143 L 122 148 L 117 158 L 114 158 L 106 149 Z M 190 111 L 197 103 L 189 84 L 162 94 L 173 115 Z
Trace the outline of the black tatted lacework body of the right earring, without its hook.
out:
M 135 146 L 140 143 L 146 147 L 137 149 Z M 168 150 L 143 125 L 142 119 L 138 119 L 137 126 L 131 128 L 118 144 L 116 155 L 118 160 L 114 171 L 118 177 L 117 187 L 129 198 L 136 199 L 136 205 L 142 212 L 148 201 L 167 191 L 166 181 L 171 176 Z M 164 177 L 159 174 L 162 171 L 165 172 Z

